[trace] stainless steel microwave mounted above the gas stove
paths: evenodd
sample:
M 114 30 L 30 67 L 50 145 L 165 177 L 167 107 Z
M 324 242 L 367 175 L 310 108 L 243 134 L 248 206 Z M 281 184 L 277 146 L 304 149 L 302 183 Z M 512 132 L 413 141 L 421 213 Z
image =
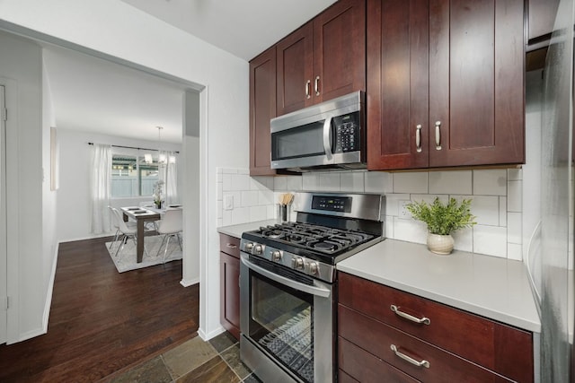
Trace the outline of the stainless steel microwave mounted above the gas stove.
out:
M 365 124 L 363 91 L 272 118 L 271 168 L 364 169 Z

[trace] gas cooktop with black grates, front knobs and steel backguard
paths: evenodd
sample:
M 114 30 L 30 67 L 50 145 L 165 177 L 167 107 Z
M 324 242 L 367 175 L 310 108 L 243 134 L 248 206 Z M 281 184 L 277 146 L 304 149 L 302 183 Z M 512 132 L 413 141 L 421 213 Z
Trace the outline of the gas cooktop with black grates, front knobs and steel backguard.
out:
M 384 196 L 297 193 L 294 205 L 296 222 L 244 231 L 242 257 L 333 283 L 338 262 L 385 239 Z

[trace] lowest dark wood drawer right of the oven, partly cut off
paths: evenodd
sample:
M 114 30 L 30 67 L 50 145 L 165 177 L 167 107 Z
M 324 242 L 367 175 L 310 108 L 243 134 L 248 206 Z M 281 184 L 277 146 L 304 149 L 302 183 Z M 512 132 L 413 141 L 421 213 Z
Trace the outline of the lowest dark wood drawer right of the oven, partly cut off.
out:
M 417 382 L 346 339 L 338 339 L 339 382 Z

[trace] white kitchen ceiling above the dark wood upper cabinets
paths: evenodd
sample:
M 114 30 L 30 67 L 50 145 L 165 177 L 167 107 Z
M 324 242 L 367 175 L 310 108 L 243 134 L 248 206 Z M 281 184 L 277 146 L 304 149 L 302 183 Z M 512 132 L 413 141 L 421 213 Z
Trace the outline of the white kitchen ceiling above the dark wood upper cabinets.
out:
M 335 0 L 122 0 L 246 61 Z

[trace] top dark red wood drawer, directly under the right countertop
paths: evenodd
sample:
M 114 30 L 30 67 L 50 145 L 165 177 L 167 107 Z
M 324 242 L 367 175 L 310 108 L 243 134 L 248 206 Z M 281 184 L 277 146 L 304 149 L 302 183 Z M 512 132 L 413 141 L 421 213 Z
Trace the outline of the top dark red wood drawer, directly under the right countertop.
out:
M 430 344 L 518 381 L 533 381 L 532 334 L 460 309 L 339 273 L 339 302 Z M 403 318 L 392 305 L 414 318 Z

